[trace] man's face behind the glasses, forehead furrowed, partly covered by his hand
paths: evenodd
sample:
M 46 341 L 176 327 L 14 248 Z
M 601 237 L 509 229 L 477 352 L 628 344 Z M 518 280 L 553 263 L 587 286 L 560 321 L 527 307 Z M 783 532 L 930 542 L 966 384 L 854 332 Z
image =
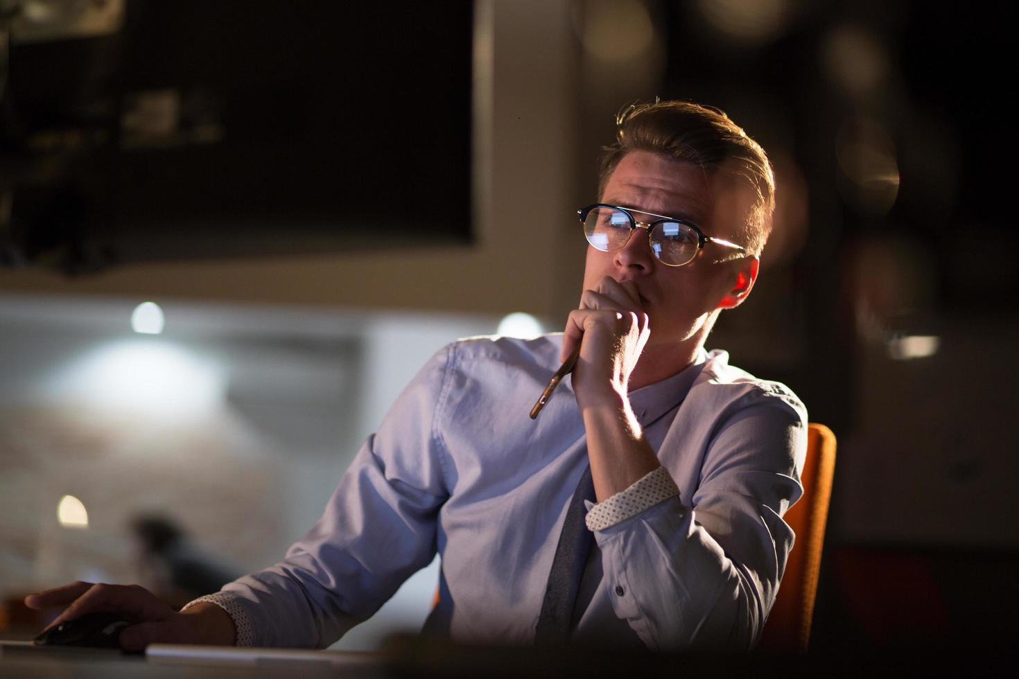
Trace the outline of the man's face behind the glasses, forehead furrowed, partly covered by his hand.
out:
M 631 152 L 620 161 L 600 202 L 632 208 L 637 221 L 657 219 L 640 212 L 646 210 L 685 219 L 705 235 L 734 241 L 752 207 L 746 191 L 721 173 L 707 175 L 693 163 L 643 151 Z M 650 320 L 648 347 L 702 341 L 700 331 L 710 329 L 717 309 L 742 301 L 742 296 L 733 294 L 741 271 L 744 283 L 747 276 L 753 277 L 749 269 L 756 275 L 749 258 L 718 263 L 731 254 L 729 248 L 707 243 L 690 264 L 669 267 L 655 259 L 647 230 L 639 228 L 622 249 L 602 252 L 588 246 L 584 289 L 594 289 L 604 276 L 619 282 L 632 280 Z

